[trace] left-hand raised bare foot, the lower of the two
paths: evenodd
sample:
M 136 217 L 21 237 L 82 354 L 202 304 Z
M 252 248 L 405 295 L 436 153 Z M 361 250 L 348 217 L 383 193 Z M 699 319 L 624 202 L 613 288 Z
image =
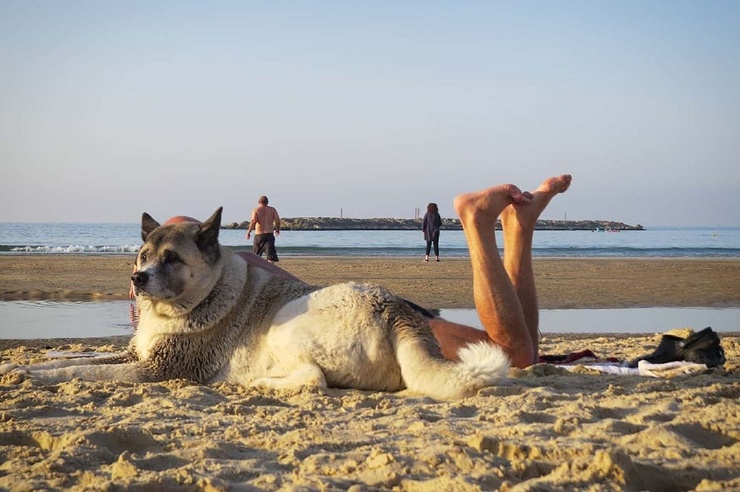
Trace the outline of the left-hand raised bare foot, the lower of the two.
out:
M 509 205 L 526 205 L 533 198 L 512 184 L 502 184 L 455 197 L 453 207 L 463 226 L 475 221 L 478 225 L 496 224 L 496 219 Z

